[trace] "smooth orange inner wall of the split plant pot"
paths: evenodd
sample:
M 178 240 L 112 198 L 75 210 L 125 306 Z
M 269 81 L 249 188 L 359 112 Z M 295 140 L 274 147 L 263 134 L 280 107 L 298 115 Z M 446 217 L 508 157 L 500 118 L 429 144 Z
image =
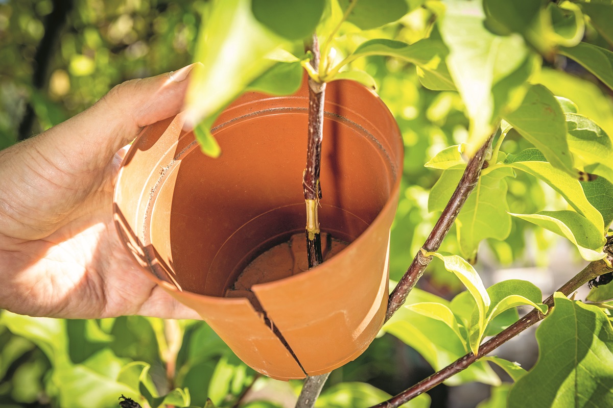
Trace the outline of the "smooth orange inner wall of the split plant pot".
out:
M 251 111 L 216 127 L 219 158 L 202 154 L 191 134 L 166 152 L 143 198 L 158 275 L 183 291 L 223 296 L 258 254 L 303 231 L 307 121 L 305 108 Z M 364 128 L 335 114 L 324 124 L 320 223 L 351 242 L 386 204 L 394 166 Z

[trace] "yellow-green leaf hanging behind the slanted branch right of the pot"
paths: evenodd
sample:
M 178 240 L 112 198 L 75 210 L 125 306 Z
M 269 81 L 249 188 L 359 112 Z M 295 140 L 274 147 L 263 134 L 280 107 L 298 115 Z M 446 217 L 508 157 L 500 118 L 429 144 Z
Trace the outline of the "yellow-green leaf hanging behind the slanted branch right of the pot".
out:
M 444 209 L 462 174 L 462 169 L 447 169 L 441 174 L 430 190 L 429 211 Z M 504 168 L 484 172 L 455 220 L 460 251 L 466 258 L 474 257 L 481 240 L 503 240 L 511 232 L 506 177 L 514 177 L 514 172 Z

